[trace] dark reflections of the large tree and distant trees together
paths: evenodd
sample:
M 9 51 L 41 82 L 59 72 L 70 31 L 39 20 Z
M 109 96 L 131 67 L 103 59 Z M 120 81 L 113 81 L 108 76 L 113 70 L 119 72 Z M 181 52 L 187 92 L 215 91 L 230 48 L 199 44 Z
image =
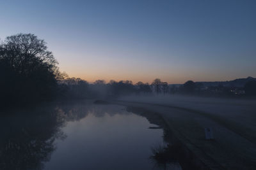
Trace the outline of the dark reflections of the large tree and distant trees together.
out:
M 1 113 L 0 169 L 44 169 L 56 149 L 54 140 L 66 137 L 61 127 L 90 113 L 112 116 L 120 108 L 68 102 Z

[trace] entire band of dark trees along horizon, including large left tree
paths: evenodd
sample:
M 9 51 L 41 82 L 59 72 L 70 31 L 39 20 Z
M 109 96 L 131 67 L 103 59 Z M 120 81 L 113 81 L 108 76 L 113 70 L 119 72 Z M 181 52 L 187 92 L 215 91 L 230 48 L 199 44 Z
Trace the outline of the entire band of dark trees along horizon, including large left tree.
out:
M 34 34 L 8 36 L 0 43 L 0 103 L 31 104 L 56 98 L 84 99 L 118 97 L 129 94 L 198 94 L 202 85 L 187 81 L 179 87 L 156 78 L 151 84 L 139 81 L 97 80 L 88 83 L 61 73 L 58 61 L 47 49 L 43 39 Z M 220 87 L 219 89 L 223 89 Z M 211 88 L 210 88 L 211 89 Z M 255 81 L 246 83 L 247 94 L 255 95 Z M 230 90 L 230 89 L 228 89 Z M 0 105 L 0 106 L 1 106 Z

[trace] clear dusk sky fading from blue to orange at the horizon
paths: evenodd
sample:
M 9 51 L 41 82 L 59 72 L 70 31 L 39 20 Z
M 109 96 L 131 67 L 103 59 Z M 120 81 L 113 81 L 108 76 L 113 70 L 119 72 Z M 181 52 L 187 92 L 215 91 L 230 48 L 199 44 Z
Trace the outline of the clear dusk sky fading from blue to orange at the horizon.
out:
M 256 77 L 256 1 L 1 1 L 0 38 L 33 33 L 61 71 L 168 83 Z

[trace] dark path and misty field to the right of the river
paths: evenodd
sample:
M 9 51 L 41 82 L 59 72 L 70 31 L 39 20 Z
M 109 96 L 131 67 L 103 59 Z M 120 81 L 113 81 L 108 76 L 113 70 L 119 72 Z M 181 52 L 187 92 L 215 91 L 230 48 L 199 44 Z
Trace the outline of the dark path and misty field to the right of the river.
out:
M 217 102 L 217 101 L 216 101 Z M 155 112 L 161 117 L 172 131 L 173 135 L 188 148 L 209 169 L 255 169 L 256 145 L 255 127 L 252 120 L 253 110 L 251 103 L 240 103 L 238 106 L 246 115 L 233 112 L 234 101 L 225 101 L 227 105 L 218 101 L 214 103 L 215 110 L 211 110 L 210 101 L 204 101 L 204 106 L 199 101 L 188 104 L 159 104 L 147 101 L 111 101 L 113 104 L 121 104 L 130 108 L 140 108 L 145 112 Z M 238 101 L 239 103 L 239 101 Z M 224 104 L 224 105 L 223 105 Z M 180 106 L 182 105 L 182 106 Z M 195 110 L 197 105 L 197 110 Z M 195 107 L 195 108 L 193 108 Z M 205 110 L 209 111 L 205 111 Z M 221 115 L 221 111 L 226 114 Z M 243 115 L 237 120 L 239 115 Z M 248 119 L 248 120 L 247 120 Z M 246 120 L 246 121 L 245 121 Z M 244 122 L 245 121 L 245 122 Z M 243 124 L 244 122 L 244 124 Z M 248 124 L 246 124 L 246 122 Z M 204 128 L 211 127 L 214 132 L 214 140 L 206 140 Z

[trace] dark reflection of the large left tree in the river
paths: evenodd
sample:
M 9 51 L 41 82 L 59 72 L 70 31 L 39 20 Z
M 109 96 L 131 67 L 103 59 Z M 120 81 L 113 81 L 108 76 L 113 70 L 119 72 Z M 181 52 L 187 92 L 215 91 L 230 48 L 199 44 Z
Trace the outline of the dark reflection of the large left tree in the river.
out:
M 54 105 L 12 112 L 1 115 L 0 169 L 43 169 L 65 120 Z

